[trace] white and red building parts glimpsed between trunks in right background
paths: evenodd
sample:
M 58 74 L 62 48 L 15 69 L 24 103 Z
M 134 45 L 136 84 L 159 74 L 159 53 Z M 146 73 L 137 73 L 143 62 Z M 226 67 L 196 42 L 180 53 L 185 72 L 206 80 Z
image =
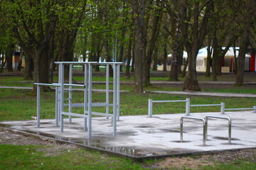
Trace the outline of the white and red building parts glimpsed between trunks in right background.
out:
M 230 47 L 228 52 L 225 54 L 223 63 L 222 63 L 222 72 L 233 72 L 235 67 L 235 59 L 234 57 L 238 57 L 239 53 L 239 47 L 235 47 L 237 50 L 233 50 L 233 47 Z M 171 54 L 168 55 L 168 61 L 171 60 Z M 183 60 L 186 60 L 188 58 L 188 54 L 186 51 L 183 51 Z M 206 64 L 207 64 L 207 49 L 206 47 L 201 48 L 198 51 L 198 56 L 196 59 L 196 71 L 197 72 L 206 72 Z M 159 71 L 163 70 L 163 65 L 159 65 L 157 69 Z M 167 71 L 171 70 L 171 65 L 167 64 L 166 65 Z M 246 54 L 245 55 L 245 71 L 251 71 L 255 72 L 256 71 L 256 62 L 255 62 L 255 54 L 251 53 L 250 55 Z

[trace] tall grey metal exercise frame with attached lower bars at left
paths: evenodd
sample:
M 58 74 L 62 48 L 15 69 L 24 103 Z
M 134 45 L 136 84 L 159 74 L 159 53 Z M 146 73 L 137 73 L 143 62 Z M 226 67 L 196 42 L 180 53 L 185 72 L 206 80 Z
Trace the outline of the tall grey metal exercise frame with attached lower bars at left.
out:
M 100 115 L 112 118 L 113 136 L 117 135 L 117 120 L 119 120 L 119 68 L 122 62 L 55 62 L 59 65 L 58 69 L 58 84 L 36 84 L 37 89 L 37 127 L 40 127 L 40 86 L 54 86 L 55 87 L 55 122 L 58 126 L 60 121 L 60 131 L 63 132 L 64 128 L 64 115 L 68 115 L 69 123 L 72 122 L 72 116 L 84 118 L 84 130 L 88 130 L 88 138 L 92 136 L 92 115 Z M 85 81 L 84 84 L 73 84 L 73 65 L 85 65 Z M 105 103 L 92 103 L 92 65 L 99 64 L 106 66 L 106 102 Z M 69 84 L 64 84 L 64 65 L 69 65 Z M 113 66 L 113 103 L 110 103 L 110 65 Z M 68 86 L 68 98 L 64 98 Z M 73 103 L 73 86 L 80 86 L 84 88 L 84 102 Z M 64 103 L 68 100 L 68 104 Z M 68 112 L 64 111 L 64 106 L 68 106 Z M 113 107 L 113 113 L 109 113 L 109 107 Z M 84 114 L 73 113 L 72 108 L 83 107 Z M 92 107 L 106 107 L 106 113 L 92 112 Z M 88 125 L 87 125 L 88 123 Z M 87 129 L 88 126 L 88 129 Z

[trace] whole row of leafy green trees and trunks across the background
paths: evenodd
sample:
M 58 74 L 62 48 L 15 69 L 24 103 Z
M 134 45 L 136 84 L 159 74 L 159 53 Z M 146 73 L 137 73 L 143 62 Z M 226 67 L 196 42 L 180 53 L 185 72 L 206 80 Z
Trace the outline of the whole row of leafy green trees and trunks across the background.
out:
M 213 56 L 217 80 L 225 52 L 238 45 L 236 83 L 242 84 L 245 52 L 255 45 L 255 5 L 255 0 L 1 0 L 0 54 L 10 58 L 18 44 L 26 54 L 25 78 L 32 79 L 33 67 L 33 79 L 40 83 L 53 80 L 55 61 L 75 56 L 126 62 L 127 78 L 134 62 L 135 90 L 142 92 L 150 84 L 151 65 L 156 69 L 161 60 L 166 66 L 168 53 L 170 79 L 177 81 L 186 50 L 183 90 L 200 91 L 198 50 L 208 47 L 206 76 Z

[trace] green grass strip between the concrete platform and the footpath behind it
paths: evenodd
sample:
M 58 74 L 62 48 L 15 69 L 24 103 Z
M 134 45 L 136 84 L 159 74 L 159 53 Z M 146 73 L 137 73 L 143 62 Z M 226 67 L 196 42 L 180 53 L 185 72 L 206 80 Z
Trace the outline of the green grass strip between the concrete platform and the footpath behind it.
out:
M 23 89 L 0 89 L 0 121 L 1 120 L 31 120 L 36 115 L 36 96 L 31 95 L 31 90 Z M 67 94 L 66 94 L 67 95 Z M 68 97 L 68 96 L 66 96 Z M 93 92 L 94 103 L 105 102 L 105 93 Z M 120 115 L 146 115 L 148 112 L 149 98 L 154 101 L 185 100 L 191 98 L 191 104 L 217 104 L 225 102 L 225 108 L 252 108 L 256 98 L 225 98 L 206 96 L 181 96 L 172 94 L 122 92 L 120 94 Z M 110 94 L 112 102 L 112 94 Z M 82 103 L 83 93 L 73 92 L 73 103 Z M 68 108 L 65 108 L 68 109 Z M 82 113 L 82 108 L 74 108 L 75 113 Z M 110 107 L 110 111 L 112 108 Z M 184 103 L 154 103 L 154 114 L 185 113 Z M 92 111 L 105 112 L 104 107 L 93 108 Z M 191 113 L 220 111 L 219 106 L 193 107 Z M 42 93 L 41 118 L 54 118 L 55 116 L 55 92 Z

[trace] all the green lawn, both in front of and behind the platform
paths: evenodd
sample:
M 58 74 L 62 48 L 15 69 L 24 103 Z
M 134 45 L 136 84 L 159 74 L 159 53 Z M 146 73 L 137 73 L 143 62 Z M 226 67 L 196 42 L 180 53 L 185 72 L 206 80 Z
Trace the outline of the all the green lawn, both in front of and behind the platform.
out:
M 74 77 L 76 81 L 82 81 L 80 77 Z M 122 78 L 124 79 L 124 78 Z M 167 79 L 156 77 L 156 81 Z M 201 79 L 201 78 L 200 78 Z M 202 78 L 203 79 L 203 78 Z M 95 81 L 104 81 L 102 77 L 96 77 Z M 132 80 L 129 80 L 132 81 Z M 22 77 L 0 77 L 0 85 L 3 86 L 32 86 L 32 81 L 23 81 Z M 97 89 L 104 89 L 104 84 L 95 85 Z M 178 91 L 177 86 L 149 86 L 145 90 Z M 205 96 L 181 96 L 171 94 L 155 94 L 146 92 L 142 95 L 133 91 L 129 84 L 121 85 L 120 94 L 120 115 L 146 115 L 148 99 L 157 100 L 184 100 L 191 98 L 191 104 L 215 104 L 225 102 L 225 108 L 248 108 L 255 106 L 256 98 L 227 98 L 227 97 L 205 97 Z M 209 89 L 208 91 L 225 93 L 248 93 L 256 94 L 255 89 L 246 87 L 234 87 L 233 89 Z M 93 92 L 93 102 L 105 101 L 105 94 Z M 73 101 L 82 102 L 83 93 L 73 92 Z M 110 99 L 110 101 L 112 98 Z M 66 108 L 67 109 L 67 108 Z M 185 103 L 154 103 L 154 114 L 185 113 Z M 75 110 L 82 113 L 81 108 Z M 94 108 L 93 111 L 104 112 L 105 108 Z M 193 107 L 191 113 L 220 111 L 220 107 Z M 36 115 L 36 96 L 31 90 L 24 89 L 0 89 L 0 121 L 4 120 L 31 120 Z M 41 117 L 55 117 L 55 92 L 43 93 L 41 96 Z M 65 150 L 57 156 L 46 156 L 46 150 L 52 146 L 39 145 L 0 145 L 0 169 L 155 169 L 154 164 L 159 161 L 133 162 L 131 159 L 110 157 L 98 152 L 89 152 L 85 149 Z M 161 161 L 161 160 L 160 160 Z M 148 168 L 146 168 L 148 167 Z M 176 169 L 176 168 L 169 168 Z M 183 169 L 186 169 L 183 168 Z M 201 169 L 256 169 L 255 162 L 247 159 L 240 159 L 227 164 L 215 166 L 201 166 Z

